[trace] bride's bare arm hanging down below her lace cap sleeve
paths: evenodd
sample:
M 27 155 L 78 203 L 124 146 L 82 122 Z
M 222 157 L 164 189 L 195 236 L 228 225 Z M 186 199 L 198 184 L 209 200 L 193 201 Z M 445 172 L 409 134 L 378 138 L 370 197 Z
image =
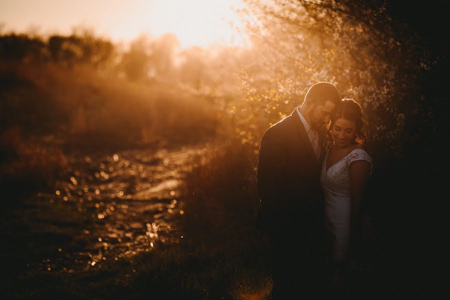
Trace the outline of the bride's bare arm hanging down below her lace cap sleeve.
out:
M 351 186 L 351 219 L 350 219 L 350 255 L 357 255 L 362 227 L 360 210 L 361 196 L 370 175 L 370 162 L 356 160 L 350 163 L 349 175 Z

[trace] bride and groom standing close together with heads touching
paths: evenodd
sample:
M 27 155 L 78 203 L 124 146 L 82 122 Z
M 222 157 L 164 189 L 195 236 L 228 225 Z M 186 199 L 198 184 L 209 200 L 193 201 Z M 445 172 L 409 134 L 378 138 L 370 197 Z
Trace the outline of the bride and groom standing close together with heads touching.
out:
M 330 120 L 331 134 L 325 127 Z M 323 81 L 265 131 L 258 154 L 257 226 L 269 241 L 272 299 L 322 298 L 325 290 L 344 284 L 372 167 L 361 147 L 362 125 L 360 106 Z

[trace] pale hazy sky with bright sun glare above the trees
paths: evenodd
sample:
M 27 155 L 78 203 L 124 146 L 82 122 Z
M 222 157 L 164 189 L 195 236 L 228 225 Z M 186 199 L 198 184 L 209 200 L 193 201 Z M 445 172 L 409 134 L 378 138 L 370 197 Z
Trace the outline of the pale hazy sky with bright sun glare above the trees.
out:
M 0 0 L 2 32 L 71 33 L 74 26 L 93 28 L 98 35 L 130 40 L 140 33 L 173 32 L 182 47 L 214 42 L 240 44 L 241 0 Z M 0 27 L 1 28 L 1 27 Z

